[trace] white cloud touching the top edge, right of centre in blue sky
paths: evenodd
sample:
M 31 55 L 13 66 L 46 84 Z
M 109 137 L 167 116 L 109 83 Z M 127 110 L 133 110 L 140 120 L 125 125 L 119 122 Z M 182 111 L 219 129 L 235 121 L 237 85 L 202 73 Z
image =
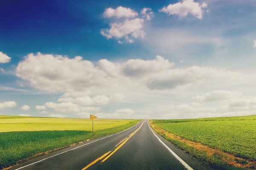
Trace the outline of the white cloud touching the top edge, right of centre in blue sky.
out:
M 160 9 L 168 15 L 179 15 L 180 17 L 186 17 L 188 14 L 193 15 L 199 19 L 203 18 L 204 8 L 207 8 L 207 3 L 194 2 L 194 0 L 182 0 L 181 2 L 169 4 L 167 7 Z

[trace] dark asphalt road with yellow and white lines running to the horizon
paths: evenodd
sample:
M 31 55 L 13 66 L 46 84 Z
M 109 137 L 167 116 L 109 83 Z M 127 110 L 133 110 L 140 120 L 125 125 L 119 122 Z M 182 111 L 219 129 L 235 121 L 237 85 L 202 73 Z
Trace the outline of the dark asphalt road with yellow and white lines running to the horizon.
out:
M 157 138 L 159 137 L 159 139 Z M 166 147 L 160 140 L 166 144 Z M 174 155 L 170 152 L 173 151 Z M 179 159 L 179 160 L 178 160 Z M 209 170 L 154 133 L 147 120 L 113 136 L 28 160 L 11 170 Z

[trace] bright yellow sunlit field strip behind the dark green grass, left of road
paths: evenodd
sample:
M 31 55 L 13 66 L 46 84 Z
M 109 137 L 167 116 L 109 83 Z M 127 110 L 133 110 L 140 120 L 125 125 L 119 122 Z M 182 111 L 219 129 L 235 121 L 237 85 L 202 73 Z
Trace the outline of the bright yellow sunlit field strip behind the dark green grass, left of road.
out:
M 95 119 L 94 130 L 128 124 L 131 119 Z M 0 116 L 0 132 L 40 130 L 92 130 L 90 119 Z

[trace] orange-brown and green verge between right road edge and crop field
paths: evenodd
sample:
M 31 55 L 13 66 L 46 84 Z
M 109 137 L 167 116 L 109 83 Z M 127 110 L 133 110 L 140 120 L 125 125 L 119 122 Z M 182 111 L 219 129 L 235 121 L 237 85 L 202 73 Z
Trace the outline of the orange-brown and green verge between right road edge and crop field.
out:
M 222 150 L 211 148 L 201 143 L 183 139 L 180 136 L 169 133 L 163 128 L 158 127 L 152 121 L 149 121 L 149 125 L 155 130 L 155 132 L 175 144 L 175 146 L 181 150 L 184 150 L 190 156 L 202 161 L 204 164 L 207 164 L 210 167 L 221 170 L 256 169 L 256 162 L 233 156 L 229 153 L 225 153 Z

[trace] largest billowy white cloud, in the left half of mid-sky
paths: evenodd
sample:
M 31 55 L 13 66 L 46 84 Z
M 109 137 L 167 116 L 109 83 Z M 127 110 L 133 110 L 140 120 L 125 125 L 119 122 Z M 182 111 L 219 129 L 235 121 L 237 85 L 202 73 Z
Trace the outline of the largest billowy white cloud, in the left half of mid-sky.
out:
M 104 71 L 82 57 L 69 59 L 59 55 L 29 54 L 19 62 L 16 75 L 40 90 L 49 92 L 87 91 L 108 87 L 111 83 Z

